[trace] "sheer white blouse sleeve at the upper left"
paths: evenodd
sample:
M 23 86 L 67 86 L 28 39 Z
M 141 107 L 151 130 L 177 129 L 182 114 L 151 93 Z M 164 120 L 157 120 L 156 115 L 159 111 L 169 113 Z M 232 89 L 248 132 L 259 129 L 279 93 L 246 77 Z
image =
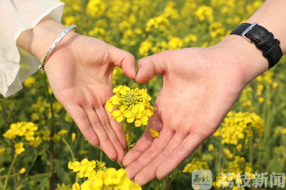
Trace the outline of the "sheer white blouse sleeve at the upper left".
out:
M 21 52 L 16 45 L 17 38 L 46 15 L 61 22 L 63 6 L 58 0 L 0 0 L 0 93 L 4 97 L 21 90 L 22 82 L 40 64 L 28 52 Z M 27 56 L 22 59 L 24 54 Z

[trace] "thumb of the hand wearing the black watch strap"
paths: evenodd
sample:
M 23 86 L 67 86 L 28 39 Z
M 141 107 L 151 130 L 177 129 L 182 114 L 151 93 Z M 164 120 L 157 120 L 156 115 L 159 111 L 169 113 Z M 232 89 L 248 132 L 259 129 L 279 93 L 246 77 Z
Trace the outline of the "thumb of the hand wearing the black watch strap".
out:
M 151 80 L 154 75 L 164 73 L 171 55 L 172 50 L 169 50 L 138 60 L 136 82 L 142 84 Z

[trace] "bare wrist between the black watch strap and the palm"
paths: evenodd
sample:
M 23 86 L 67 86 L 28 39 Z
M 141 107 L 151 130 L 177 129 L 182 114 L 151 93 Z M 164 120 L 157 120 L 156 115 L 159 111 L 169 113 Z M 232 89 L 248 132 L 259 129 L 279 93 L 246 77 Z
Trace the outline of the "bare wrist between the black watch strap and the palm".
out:
M 268 60 L 255 44 L 249 43 L 241 36 L 229 35 L 210 48 L 221 50 L 226 56 L 225 59 L 232 59 L 231 62 L 239 65 L 245 73 L 243 77 L 247 84 L 267 71 L 269 67 Z

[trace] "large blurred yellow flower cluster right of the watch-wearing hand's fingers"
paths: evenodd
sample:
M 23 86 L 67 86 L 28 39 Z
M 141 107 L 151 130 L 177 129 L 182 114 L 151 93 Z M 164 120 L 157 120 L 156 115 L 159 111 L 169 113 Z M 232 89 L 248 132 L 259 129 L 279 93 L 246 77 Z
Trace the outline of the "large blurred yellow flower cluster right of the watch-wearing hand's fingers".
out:
M 256 113 L 230 111 L 213 135 L 222 138 L 221 144 L 237 145 L 246 136 L 253 137 L 253 131 L 261 136 L 264 131 L 263 123 L 264 120 Z

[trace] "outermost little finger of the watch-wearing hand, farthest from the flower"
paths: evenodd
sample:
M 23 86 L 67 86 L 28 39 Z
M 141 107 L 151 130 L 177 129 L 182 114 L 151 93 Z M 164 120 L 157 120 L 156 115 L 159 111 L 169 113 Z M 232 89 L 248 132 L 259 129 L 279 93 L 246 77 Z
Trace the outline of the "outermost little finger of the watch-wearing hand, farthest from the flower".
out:
M 176 148 L 168 158 L 158 167 L 156 176 L 162 179 L 173 171 L 182 161 L 194 152 L 194 150 L 204 142 L 205 138 L 197 133 L 190 133 L 183 142 Z

